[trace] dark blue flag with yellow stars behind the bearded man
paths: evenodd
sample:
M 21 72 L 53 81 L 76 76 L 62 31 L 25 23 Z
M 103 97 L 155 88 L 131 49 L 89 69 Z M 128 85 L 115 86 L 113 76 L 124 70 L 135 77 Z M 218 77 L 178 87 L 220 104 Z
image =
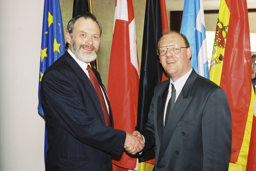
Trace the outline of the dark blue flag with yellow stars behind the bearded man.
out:
M 65 53 L 65 39 L 59 0 L 45 0 L 42 23 L 42 42 L 38 85 L 38 111 L 45 117 L 40 101 L 41 79 L 45 70 Z M 48 149 L 47 129 L 45 128 L 45 159 Z

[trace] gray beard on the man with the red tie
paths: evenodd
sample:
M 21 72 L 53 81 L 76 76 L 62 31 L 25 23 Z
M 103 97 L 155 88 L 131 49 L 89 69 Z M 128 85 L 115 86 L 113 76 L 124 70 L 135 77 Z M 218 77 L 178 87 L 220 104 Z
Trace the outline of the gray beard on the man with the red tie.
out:
M 84 54 L 80 53 L 77 50 L 75 43 L 72 41 L 72 39 L 71 39 L 71 51 L 74 53 L 74 55 L 76 56 L 77 59 L 79 59 L 83 62 L 86 62 L 86 63 L 94 61 L 97 57 L 96 52 L 85 52 Z

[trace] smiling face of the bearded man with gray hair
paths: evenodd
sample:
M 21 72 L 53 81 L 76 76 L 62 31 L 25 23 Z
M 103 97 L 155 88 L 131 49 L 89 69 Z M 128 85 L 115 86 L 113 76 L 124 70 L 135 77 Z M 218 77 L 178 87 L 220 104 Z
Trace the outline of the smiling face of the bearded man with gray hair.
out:
M 66 41 L 75 56 L 86 63 L 96 59 L 99 53 L 100 29 L 92 19 L 79 18 L 74 26 L 72 35 L 66 30 Z

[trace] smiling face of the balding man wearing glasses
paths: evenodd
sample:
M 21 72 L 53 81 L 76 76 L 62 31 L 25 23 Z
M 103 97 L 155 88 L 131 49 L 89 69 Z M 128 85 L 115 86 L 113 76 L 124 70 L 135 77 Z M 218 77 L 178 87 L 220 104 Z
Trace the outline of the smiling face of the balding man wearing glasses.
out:
M 158 47 L 170 46 L 178 44 L 181 47 L 186 47 L 185 41 L 181 35 L 175 32 L 165 34 L 159 41 Z M 190 69 L 190 57 L 192 55 L 192 49 L 181 48 L 180 53 L 173 54 L 169 49 L 163 56 L 159 56 L 160 63 L 162 64 L 166 73 L 173 81 L 176 81 L 183 75 L 185 75 Z

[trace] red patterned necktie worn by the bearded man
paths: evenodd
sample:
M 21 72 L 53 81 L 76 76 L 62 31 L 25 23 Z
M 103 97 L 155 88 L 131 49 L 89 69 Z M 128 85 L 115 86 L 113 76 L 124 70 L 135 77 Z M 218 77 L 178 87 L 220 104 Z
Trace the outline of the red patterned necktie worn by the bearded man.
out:
M 93 87 L 94 87 L 94 89 L 95 89 L 95 91 L 98 95 L 98 98 L 99 98 L 99 101 L 100 101 L 100 104 L 101 104 L 101 107 L 102 107 L 102 111 L 103 111 L 103 114 L 104 114 L 104 117 L 105 117 L 106 126 L 108 127 L 108 126 L 110 126 L 109 115 L 108 115 L 107 106 L 106 106 L 106 103 L 105 103 L 105 100 L 104 100 L 104 97 L 103 97 L 98 79 L 96 78 L 96 76 L 95 76 L 94 72 L 92 71 L 92 68 L 90 67 L 90 65 L 87 66 L 86 70 L 89 72 L 90 80 L 91 80 L 92 85 L 93 85 Z

